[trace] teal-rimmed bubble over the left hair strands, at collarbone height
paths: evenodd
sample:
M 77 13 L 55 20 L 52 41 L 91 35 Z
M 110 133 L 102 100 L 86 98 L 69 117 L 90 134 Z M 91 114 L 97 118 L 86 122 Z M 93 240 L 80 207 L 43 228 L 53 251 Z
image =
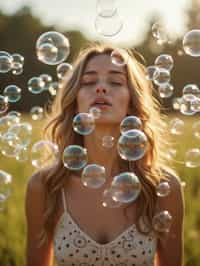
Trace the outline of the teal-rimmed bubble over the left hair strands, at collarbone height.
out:
M 79 145 L 69 145 L 63 152 L 63 163 L 69 170 L 80 170 L 87 164 L 87 149 Z

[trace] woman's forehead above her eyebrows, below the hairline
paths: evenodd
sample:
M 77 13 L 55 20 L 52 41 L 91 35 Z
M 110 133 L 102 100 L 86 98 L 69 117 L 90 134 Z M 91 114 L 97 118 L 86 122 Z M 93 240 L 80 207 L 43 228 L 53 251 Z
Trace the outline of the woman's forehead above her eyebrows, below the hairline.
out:
M 102 74 L 110 71 L 116 71 L 126 75 L 125 67 L 113 64 L 110 54 L 99 54 L 92 56 L 85 66 L 84 73 L 90 71 L 95 71 Z

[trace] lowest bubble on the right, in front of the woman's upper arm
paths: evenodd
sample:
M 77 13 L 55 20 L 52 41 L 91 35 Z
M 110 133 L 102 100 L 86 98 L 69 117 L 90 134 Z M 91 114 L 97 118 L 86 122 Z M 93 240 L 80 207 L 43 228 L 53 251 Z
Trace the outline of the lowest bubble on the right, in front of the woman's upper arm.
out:
M 172 216 L 167 211 L 156 213 L 153 217 L 153 228 L 159 233 L 169 233 L 172 224 Z

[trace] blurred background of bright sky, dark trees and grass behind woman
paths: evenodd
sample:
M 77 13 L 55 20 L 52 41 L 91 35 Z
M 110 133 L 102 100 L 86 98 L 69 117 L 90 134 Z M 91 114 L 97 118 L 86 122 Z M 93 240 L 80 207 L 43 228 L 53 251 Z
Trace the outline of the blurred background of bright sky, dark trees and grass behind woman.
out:
M 22 113 L 24 121 L 33 125 L 32 143 L 41 139 L 43 121 L 33 121 L 30 109 L 33 106 L 44 106 L 49 100 L 49 93 L 33 95 L 27 89 L 27 81 L 46 73 L 56 81 L 56 67 L 45 65 L 37 60 L 35 43 L 41 33 L 56 30 L 69 38 L 71 45 L 71 62 L 78 51 L 90 41 L 109 41 L 119 47 L 134 48 L 145 58 L 145 64 L 152 65 L 161 54 L 170 54 L 175 62 L 171 83 L 175 91 L 173 97 L 180 97 L 184 85 L 200 83 L 200 61 L 186 55 L 182 48 L 184 34 L 192 29 L 200 28 L 200 1 L 131 1 L 119 2 L 119 10 L 123 17 L 122 31 L 112 38 L 105 38 L 95 31 L 96 1 L 39 1 L 39 0 L 7 0 L 0 2 L 0 51 L 19 53 L 24 56 L 24 72 L 19 76 L 11 73 L 0 73 L 0 94 L 5 86 L 16 84 L 22 89 L 22 99 L 10 105 L 9 110 Z M 171 38 L 170 43 L 159 45 L 152 36 L 152 25 L 162 21 L 167 26 Z M 195 139 L 192 124 L 198 121 L 199 114 L 184 116 L 172 108 L 172 98 L 159 99 L 162 112 L 167 114 L 166 122 L 179 117 L 185 122 L 185 132 L 173 139 L 177 149 L 177 161 L 183 161 L 185 151 L 199 148 L 199 140 Z M 186 183 L 185 205 L 186 216 L 184 226 L 184 265 L 198 266 L 200 258 L 200 178 L 199 167 L 187 168 L 184 164 L 175 163 L 174 168 L 183 182 Z M 0 212 L 0 265 L 25 265 L 26 224 L 24 214 L 24 196 L 29 176 L 35 170 L 30 160 L 25 163 L 4 157 L 0 154 L 0 169 L 9 172 L 13 177 L 12 195 Z

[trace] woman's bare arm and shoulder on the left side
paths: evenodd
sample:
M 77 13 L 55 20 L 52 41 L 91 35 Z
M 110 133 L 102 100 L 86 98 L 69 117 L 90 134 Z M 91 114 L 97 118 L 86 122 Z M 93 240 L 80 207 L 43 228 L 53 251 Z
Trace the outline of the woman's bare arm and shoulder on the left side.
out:
M 52 266 L 52 238 L 39 247 L 38 235 L 42 230 L 44 214 L 44 188 L 39 174 L 33 175 L 27 186 L 25 199 L 27 222 L 26 266 Z

